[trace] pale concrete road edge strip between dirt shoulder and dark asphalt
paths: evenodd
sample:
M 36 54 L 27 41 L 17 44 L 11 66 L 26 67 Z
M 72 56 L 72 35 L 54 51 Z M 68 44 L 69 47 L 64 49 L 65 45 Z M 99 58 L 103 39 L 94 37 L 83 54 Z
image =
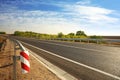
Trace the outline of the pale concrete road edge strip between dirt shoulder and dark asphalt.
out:
M 32 57 L 34 57 L 38 62 L 43 64 L 48 70 L 53 72 L 57 77 L 59 77 L 61 80 L 78 80 L 71 74 L 67 73 L 66 71 L 60 69 L 59 67 L 53 65 L 49 61 L 45 60 L 44 58 L 38 56 L 35 52 L 31 51 L 30 49 L 26 48 Z

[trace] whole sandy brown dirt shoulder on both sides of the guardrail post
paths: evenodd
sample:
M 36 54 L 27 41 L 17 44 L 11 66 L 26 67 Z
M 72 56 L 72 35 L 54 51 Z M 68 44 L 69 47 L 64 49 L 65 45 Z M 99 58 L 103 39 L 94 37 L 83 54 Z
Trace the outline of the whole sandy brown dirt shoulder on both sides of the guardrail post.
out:
M 13 43 L 9 40 L 3 52 L 0 52 L 0 80 L 13 80 Z M 20 50 L 16 51 L 19 55 Z M 17 80 L 60 80 L 55 74 L 30 56 L 30 72 L 22 74 L 21 62 L 17 61 Z

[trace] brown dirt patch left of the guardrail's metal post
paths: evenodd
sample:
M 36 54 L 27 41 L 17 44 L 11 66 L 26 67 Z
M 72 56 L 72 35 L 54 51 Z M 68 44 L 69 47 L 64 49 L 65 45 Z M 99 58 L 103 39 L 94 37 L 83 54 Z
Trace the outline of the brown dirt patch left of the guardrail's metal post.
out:
M 0 80 L 12 80 L 12 55 L 13 47 L 9 40 L 4 50 L 0 51 Z

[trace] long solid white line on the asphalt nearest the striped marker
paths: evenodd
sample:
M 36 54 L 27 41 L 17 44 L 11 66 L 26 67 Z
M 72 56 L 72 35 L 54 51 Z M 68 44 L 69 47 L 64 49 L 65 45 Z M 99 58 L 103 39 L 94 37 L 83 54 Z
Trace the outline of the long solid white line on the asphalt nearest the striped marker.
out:
M 26 44 L 26 45 L 29 45 L 29 46 L 31 46 L 31 47 L 33 47 L 33 48 L 36 48 L 36 49 L 38 49 L 38 50 L 42 50 L 42 51 L 44 51 L 44 52 L 46 52 L 46 53 L 49 53 L 49 54 L 51 54 L 51 55 L 53 55 L 53 56 L 62 58 L 62 59 L 67 60 L 67 61 L 69 61 L 69 62 L 75 63 L 75 64 L 77 64 L 77 65 L 83 66 L 83 67 L 85 67 L 85 68 L 94 70 L 94 71 L 96 71 L 96 72 L 99 72 L 99 73 L 102 73 L 102 74 L 107 75 L 107 76 L 109 76 L 109 77 L 112 77 L 112 78 L 115 78 L 115 79 L 120 80 L 120 77 L 115 76 L 115 75 L 113 75 L 113 74 L 110 74 L 110 73 L 104 72 L 104 71 L 102 71 L 102 70 L 96 69 L 96 68 L 94 68 L 94 67 L 91 67 L 91 66 L 88 66 L 88 65 L 85 65 L 85 64 L 82 64 L 82 63 L 73 61 L 73 60 L 71 60 L 71 59 L 69 59 L 69 58 L 65 58 L 65 57 L 63 57 L 63 56 L 60 56 L 60 55 L 54 54 L 54 53 L 52 53 L 52 52 L 49 52 L 49 51 L 47 51 L 47 50 L 44 50 L 44 49 L 35 47 L 35 46 L 30 45 L 30 44 L 28 44 L 28 43 L 25 43 L 25 42 L 23 42 L 23 41 L 21 41 L 21 42 L 24 43 L 24 44 Z

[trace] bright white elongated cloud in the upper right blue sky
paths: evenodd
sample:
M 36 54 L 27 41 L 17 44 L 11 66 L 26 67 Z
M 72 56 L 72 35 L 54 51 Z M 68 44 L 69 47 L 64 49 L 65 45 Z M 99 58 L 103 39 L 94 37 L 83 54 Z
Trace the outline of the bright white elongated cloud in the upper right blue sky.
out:
M 86 19 L 87 22 L 106 21 L 106 23 L 114 23 L 119 21 L 118 18 L 109 16 L 115 12 L 114 10 L 77 4 L 66 5 L 64 7 L 65 11 L 69 11 L 69 13 L 73 14 L 73 16 L 76 16 L 77 18 Z

